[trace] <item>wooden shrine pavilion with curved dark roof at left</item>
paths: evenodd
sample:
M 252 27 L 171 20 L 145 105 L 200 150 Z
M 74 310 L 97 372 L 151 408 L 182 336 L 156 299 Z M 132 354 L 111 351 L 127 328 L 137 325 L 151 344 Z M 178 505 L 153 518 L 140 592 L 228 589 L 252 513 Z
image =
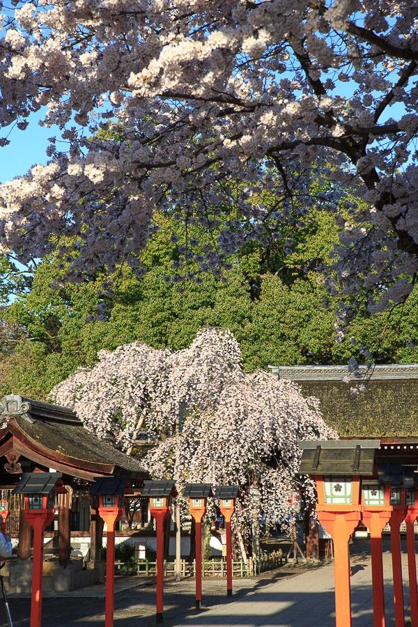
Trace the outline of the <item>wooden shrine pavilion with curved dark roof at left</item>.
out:
M 56 520 L 45 532 L 45 554 L 50 555 L 44 586 L 56 591 L 101 581 L 103 526 L 95 497 L 89 495 L 98 477 L 125 476 L 140 491 L 148 473 L 132 457 L 88 431 L 75 412 L 17 394 L 0 403 L 0 490 L 10 514 L 6 532 L 18 539 L 17 559 L 9 559 L 5 582 L 14 591 L 30 591 L 31 527 L 22 515 L 22 495 L 12 494 L 22 472 L 61 472 L 68 494 L 57 495 Z M 87 559 L 70 559 L 71 538 L 85 541 Z M 13 543 L 15 543 L 13 540 Z

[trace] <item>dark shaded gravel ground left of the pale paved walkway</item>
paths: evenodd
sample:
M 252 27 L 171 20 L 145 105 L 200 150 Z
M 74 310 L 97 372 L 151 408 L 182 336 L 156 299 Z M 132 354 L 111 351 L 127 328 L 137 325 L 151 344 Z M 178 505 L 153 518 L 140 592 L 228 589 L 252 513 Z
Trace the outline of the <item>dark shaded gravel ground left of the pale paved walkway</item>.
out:
M 257 578 L 233 580 L 233 594 L 245 596 L 280 578 L 298 575 L 307 569 L 318 568 L 317 564 L 286 564 L 277 571 L 264 573 Z M 155 625 L 155 579 L 124 578 L 132 587 L 115 595 L 115 627 L 150 627 Z M 86 594 L 84 588 L 83 594 Z M 181 582 L 164 581 L 164 624 L 178 624 L 185 617 L 195 614 L 194 579 Z M 205 578 L 202 582 L 202 604 L 205 607 L 228 603 L 226 580 Z M 29 627 L 31 601 L 29 598 L 9 598 L 13 627 Z M 74 596 L 65 598 L 44 598 L 42 601 L 42 627 L 102 627 L 104 624 L 104 598 Z M 7 627 L 6 611 L 0 601 L 0 627 Z

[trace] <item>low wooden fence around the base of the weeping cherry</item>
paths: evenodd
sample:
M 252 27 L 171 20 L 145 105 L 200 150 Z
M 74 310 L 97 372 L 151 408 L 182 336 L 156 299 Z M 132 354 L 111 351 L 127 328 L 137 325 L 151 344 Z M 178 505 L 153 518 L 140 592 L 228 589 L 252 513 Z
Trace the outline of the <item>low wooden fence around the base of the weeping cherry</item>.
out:
M 261 557 L 253 559 L 249 557 L 248 562 L 232 562 L 233 577 L 254 577 L 265 571 L 271 571 L 279 568 L 284 563 L 284 557 L 281 550 L 270 553 L 270 555 L 261 555 Z M 134 559 L 131 562 L 115 562 L 116 575 L 155 575 L 157 572 L 157 562 L 150 562 L 149 559 Z M 174 575 L 176 573 L 175 562 L 166 562 L 164 560 L 164 577 Z M 182 577 L 196 576 L 196 560 L 186 562 L 185 559 L 180 561 L 180 573 Z M 202 562 L 202 577 L 226 577 L 226 562 L 224 559 L 217 562 L 215 559 L 208 562 Z

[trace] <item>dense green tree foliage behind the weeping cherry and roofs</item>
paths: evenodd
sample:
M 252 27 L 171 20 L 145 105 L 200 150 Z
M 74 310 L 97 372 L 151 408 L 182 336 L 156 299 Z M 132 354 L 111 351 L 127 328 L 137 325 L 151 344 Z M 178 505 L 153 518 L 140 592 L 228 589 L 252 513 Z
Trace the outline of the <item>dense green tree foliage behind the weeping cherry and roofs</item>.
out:
M 319 212 L 315 221 L 309 219 L 299 228 L 297 240 L 286 222 L 278 242 L 268 247 L 249 242 L 228 258 L 226 283 L 208 273 L 203 283 L 192 278 L 180 287 L 164 277 L 173 274 L 172 264 L 179 258 L 173 233 L 182 235 L 185 227 L 172 216 L 159 219 L 161 229 L 141 259 L 149 271 L 140 281 L 135 268 L 113 277 L 98 268 L 84 284 L 54 289 L 51 284 L 65 271 L 59 248 L 40 263 L 29 291 L 3 309 L 7 323 L 19 323 L 25 333 L 3 355 L 1 392 L 13 389 L 45 398 L 78 366 L 93 364 L 99 350 L 132 341 L 178 350 L 206 326 L 233 332 L 247 370 L 269 364 L 346 364 L 353 353 L 361 359 L 362 346 L 373 352 L 376 362 L 415 361 L 406 342 L 417 337 L 417 293 L 402 308 L 378 316 L 370 316 L 366 304 L 357 301 L 353 306 L 361 316 L 351 328 L 357 346 L 349 338 L 335 342 L 338 303 L 326 293 L 316 271 L 339 234 L 328 212 Z M 198 231 L 196 227 L 189 237 Z M 291 252 L 285 250 L 289 241 Z M 190 261 L 178 272 L 193 272 L 195 265 Z M 114 295 L 109 295 L 109 279 Z

